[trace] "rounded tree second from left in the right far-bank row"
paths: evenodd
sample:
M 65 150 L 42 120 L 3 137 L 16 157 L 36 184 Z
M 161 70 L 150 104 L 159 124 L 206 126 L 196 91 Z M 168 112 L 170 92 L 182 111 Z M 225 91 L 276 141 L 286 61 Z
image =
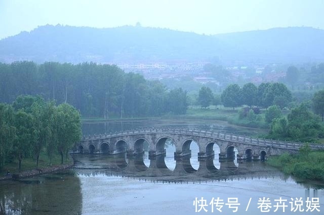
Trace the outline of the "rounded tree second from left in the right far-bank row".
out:
M 226 107 L 236 108 L 241 105 L 241 90 L 237 84 L 230 84 L 221 95 L 222 103 Z

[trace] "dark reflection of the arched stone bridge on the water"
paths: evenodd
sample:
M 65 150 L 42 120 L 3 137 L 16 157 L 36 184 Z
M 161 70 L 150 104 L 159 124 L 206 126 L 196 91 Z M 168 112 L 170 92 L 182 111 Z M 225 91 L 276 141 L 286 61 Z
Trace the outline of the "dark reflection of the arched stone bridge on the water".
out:
M 161 156 L 163 157 L 163 156 Z M 73 155 L 75 168 L 83 174 L 107 174 L 123 177 L 133 177 L 152 182 L 185 183 L 241 180 L 247 178 L 267 178 L 283 176 L 274 168 L 263 162 L 220 162 L 216 168 L 213 157 L 199 160 L 199 168 L 193 169 L 188 158 L 177 159 L 174 170 L 166 166 L 158 166 L 158 159 L 151 159 L 150 165 L 144 164 L 143 154 L 128 157 L 126 153 L 117 155 Z M 216 160 L 217 161 L 217 160 Z M 86 164 L 84 165 L 84 162 Z M 90 162 L 90 163 L 89 163 Z M 163 162 L 164 161 L 160 161 Z

